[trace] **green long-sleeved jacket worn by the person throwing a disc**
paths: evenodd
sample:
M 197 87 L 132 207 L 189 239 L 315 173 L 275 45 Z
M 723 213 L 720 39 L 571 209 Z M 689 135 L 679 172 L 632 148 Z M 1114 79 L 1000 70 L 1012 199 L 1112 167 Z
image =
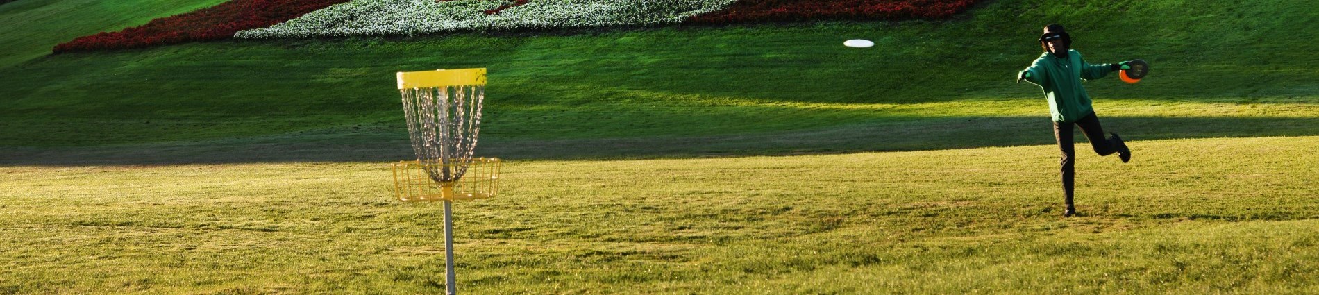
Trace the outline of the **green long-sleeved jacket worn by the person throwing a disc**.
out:
M 1067 58 L 1058 58 L 1051 53 L 1041 54 L 1026 71 L 1030 72 L 1026 80 L 1045 90 L 1049 115 L 1054 121 L 1075 122 L 1095 112 L 1089 105 L 1089 94 L 1086 94 L 1086 87 L 1080 82 L 1104 78 L 1113 70 L 1108 63 L 1086 63 L 1079 51 L 1067 50 Z

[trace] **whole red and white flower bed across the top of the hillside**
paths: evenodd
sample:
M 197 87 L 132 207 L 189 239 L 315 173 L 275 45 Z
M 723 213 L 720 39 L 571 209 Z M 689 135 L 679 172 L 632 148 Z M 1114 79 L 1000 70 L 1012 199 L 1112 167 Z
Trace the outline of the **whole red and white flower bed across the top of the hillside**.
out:
M 0 0 L 4 1 L 4 0 Z M 415 36 L 468 30 L 946 18 L 979 0 L 232 0 L 80 37 L 54 53 L 237 38 Z

